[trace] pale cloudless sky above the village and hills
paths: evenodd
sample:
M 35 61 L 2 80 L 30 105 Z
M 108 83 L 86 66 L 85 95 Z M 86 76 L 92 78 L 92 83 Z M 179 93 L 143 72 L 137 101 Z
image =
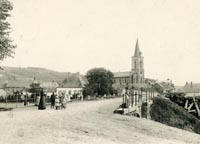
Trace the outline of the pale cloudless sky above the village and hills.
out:
M 145 77 L 200 82 L 199 0 L 11 1 L 17 48 L 3 66 L 130 71 L 138 38 Z

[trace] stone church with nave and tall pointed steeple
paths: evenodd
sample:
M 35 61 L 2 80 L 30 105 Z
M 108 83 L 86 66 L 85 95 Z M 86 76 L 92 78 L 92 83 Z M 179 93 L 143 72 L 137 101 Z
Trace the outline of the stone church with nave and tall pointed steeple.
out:
M 125 87 L 137 87 L 144 88 L 144 57 L 139 48 L 138 39 L 135 45 L 134 55 L 131 57 L 131 71 L 127 72 L 114 72 L 114 84 L 115 89 L 121 90 Z

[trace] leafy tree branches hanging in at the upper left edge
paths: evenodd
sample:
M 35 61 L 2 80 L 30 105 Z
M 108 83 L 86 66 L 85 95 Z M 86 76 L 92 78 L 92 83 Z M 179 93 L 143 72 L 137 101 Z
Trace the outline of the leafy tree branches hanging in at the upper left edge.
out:
M 13 9 L 13 5 L 8 0 L 0 0 L 0 60 L 4 60 L 7 57 L 13 57 L 14 49 L 16 45 L 12 44 L 10 39 L 10 24 L 7 22 L 7 18 L 10 17 L 9 12 Z

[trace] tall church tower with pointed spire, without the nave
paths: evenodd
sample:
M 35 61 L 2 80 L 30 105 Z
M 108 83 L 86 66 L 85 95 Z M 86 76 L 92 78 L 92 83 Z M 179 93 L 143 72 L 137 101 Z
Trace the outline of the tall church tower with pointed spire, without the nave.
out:
M 144 84 L 144 57 L 139 48 L 138 39 L 135 45 L 135 53 L 131 61 L 131 83 Z

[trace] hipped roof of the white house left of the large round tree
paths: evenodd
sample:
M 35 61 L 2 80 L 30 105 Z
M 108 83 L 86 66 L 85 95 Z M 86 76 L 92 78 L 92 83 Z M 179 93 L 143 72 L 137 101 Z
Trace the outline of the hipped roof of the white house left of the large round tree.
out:
M 85 76 L 80 74 L 70 74 L 68 77 L 59 85 L 64 88 L 82 88 L 87 84 Z

